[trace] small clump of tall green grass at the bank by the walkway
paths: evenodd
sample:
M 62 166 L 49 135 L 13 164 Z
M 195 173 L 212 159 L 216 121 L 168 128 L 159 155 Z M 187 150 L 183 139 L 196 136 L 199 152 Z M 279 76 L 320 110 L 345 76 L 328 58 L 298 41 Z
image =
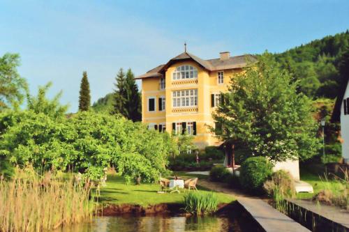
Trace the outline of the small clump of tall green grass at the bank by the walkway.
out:
M 184 210 L 195 215 L 207 215 L 215 212 L 218 199 L 213 192 L 204 194 L 201 192 L 189 192 L 184 195 Z

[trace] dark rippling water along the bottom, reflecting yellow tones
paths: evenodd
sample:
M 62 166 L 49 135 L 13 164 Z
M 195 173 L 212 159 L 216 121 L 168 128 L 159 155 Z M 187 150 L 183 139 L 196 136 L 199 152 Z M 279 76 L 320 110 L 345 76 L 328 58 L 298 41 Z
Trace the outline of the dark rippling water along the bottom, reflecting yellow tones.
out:
M 159 216 L 120 216 L 120 217 L 96 217 L 92 222 L 81 223 L 55 230 L 54 232 L 223 232 L 240 231 L 237 222 L 228 217 L 166 217 Z

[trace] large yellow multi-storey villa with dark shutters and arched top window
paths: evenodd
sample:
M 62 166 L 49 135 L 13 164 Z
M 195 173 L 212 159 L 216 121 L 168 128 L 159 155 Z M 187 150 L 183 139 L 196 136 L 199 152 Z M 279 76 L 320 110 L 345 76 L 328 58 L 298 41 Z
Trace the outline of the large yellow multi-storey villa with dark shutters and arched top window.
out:
M 158 65 L 142 79 L 142 122 L 159 131 L 193 134 L 199 148 L 221 144 L 207 125 L 214 126 L 212 111 L 228 90 L 230 79 L 253 56 L 203 60 L 188 52 Z

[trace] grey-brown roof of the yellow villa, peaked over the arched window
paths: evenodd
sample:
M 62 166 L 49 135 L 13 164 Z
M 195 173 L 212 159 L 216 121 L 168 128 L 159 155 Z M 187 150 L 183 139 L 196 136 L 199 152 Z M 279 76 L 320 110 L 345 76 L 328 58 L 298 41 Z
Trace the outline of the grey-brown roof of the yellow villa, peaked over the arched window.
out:
M 136 77 L 135 79 L 143 79 L 147 77 L 162 77 L 163 72 L 177 61 L 195 61 L 202 68 L 205 68 L 208 71 L 216 71 L 216 70 L 225 70 L 225 69 L 234 69 L 234 68 L 243 68 L 247 65 L 248 62 L 255 62 L 257 59 L 252 55 L 243 55 L 243 56 L 232 56 L 229 59 L 221 60 L 221 59 L 209 59 L 204 60 L 198 56 L 190 54 L 188 52 L 183 52 L 178 56 L 170 59 L 168 63 L 164 65 L 159 65 L 152 70 L 149 70 L 143 75 Z

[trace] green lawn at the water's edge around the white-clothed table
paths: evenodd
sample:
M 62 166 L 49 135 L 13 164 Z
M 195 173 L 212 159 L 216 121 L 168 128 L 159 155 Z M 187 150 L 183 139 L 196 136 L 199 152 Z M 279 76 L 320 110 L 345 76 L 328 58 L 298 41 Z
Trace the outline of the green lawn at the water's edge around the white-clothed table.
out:
M 181 176 L 181 172 L 176 172 L 177 176 Z M 195 175 L 198 176 L 198 175 Z M 183 175 L 183 178 L 191 178 L 191 175 Z M 200 183 L 200 176 L 199 176 Z M 198 186 L 197 186 L 198 187 Z M 105 204 L 122 204 L 131 203 L 141 206 L 154 205 L 158 203 L 181 203 L 183 201 L 184 190 L 181 193 L 165 193 L 158 194 L 160 185 L 158 184 L 142 184 L 142 185 L 126 185 L 124 178 L 117 174 L 110 174 L 107 176 L 107 186 L 101 188 L 101 198 L 99 201 Z M 192 190 L 191 190 L 192 191 Z M 198 187 L 199 192 L 209 192 L 201 187 Z M 188 191 L 187 191 L 188 192 Z M 220 192 L 216 193 L 218 202 L 230 203 L 235 199 Z

